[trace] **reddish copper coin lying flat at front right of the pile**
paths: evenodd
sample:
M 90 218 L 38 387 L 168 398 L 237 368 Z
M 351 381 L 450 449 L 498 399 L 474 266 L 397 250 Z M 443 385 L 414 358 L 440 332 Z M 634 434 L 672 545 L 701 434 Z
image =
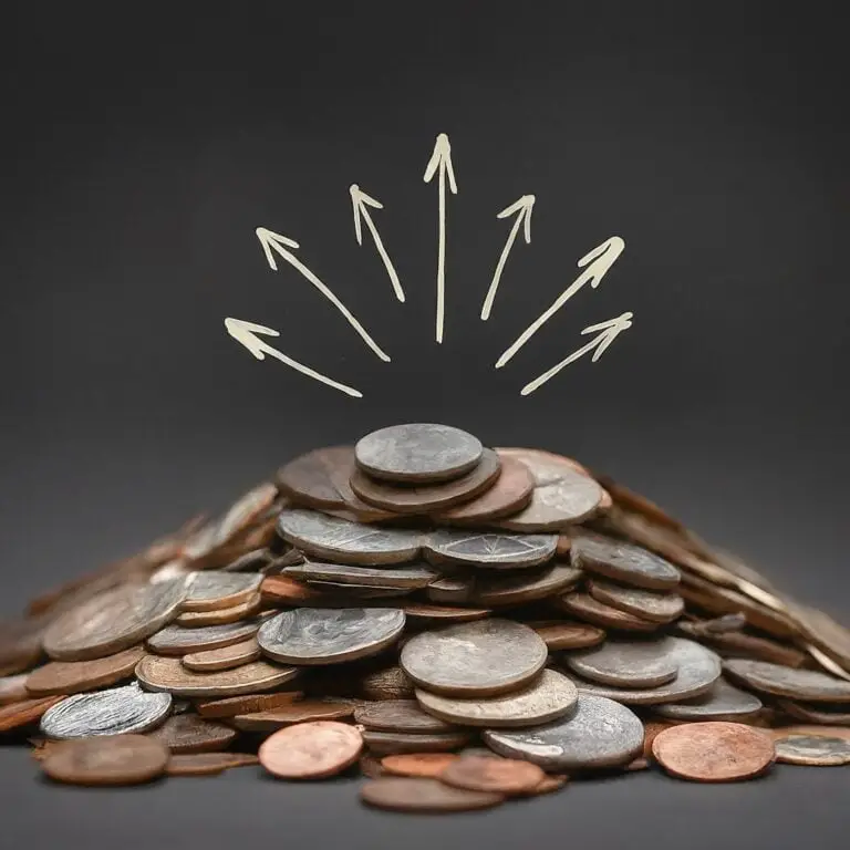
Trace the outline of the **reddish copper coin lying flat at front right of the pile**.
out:
M 776 758 L 766 732 L 740 723 L 686 723 L 660 733 L 652 755 L 670 774 L 701 782 L 727 782 L 763 774 Z

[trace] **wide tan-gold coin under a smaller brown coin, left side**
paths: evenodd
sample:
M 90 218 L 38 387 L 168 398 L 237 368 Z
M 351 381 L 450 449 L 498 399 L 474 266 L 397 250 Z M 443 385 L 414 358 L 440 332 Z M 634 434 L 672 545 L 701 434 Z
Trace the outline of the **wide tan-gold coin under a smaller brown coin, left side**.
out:
M 136 676 L 151 691 L 164 691 L 174 696 L 239 696 L 257 691 L 271 691 L 292 681 L 296 667 L 252 661 L 235 670 L 217 673 L 195 673 L 184 667 L 179 659 L 147 655 L 138 662 Z

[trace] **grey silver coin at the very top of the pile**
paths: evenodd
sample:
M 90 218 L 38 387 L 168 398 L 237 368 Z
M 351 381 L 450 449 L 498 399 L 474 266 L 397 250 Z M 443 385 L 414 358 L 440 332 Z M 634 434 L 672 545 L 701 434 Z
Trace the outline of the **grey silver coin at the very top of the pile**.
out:
M 357 466 L 390 481 L 440 481 L 471 469 L 481 442 L 459 428 L 417 423 L 381 428 L 354 446 Z

